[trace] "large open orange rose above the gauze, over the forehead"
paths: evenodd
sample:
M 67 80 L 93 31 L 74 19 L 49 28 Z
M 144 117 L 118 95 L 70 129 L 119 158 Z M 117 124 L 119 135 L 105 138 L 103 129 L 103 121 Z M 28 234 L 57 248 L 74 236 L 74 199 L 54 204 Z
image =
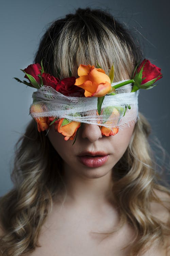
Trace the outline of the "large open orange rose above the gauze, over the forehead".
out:
M 74 85 L 85 90 L 85 97 L 102 97 L 112 89 L 109 76 L 101 68 L 81 64 L 78 75 Z

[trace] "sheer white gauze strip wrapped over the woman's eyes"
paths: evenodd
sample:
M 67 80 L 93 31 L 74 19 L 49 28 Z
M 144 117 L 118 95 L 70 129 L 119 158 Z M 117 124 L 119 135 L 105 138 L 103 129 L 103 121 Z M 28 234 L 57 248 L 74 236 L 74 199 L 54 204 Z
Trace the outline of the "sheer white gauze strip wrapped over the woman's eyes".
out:
M 112 86 L 124 81 L 127 80 L 112 83 Z M 98 115 L 97 97 L 68 97 L 50 86 L 42 86 L 33 93 L 30 114 L 33 118 L 58 117 L 111 129 L 122 129 L 136 123 L 138 119 L 139 90 L 134 93 L 131 93 L 131 90 L 132 84 L 128 84 L 117 88 L 116 95 L 106 95 L 101 115 Z M 129 105 L 131 109 L 128 108 Z

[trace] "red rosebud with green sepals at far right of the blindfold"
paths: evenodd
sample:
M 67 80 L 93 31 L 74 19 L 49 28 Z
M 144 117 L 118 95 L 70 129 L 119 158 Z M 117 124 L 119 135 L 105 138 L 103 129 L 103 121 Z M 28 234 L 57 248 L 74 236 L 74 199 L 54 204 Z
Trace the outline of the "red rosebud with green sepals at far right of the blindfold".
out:
M 157 80 L 163 77 L 161 69 L 153 65 L 149 60 L 144 59 L 132 76 L 134 84 L 131 92 L 141 89 L 151 89 Z

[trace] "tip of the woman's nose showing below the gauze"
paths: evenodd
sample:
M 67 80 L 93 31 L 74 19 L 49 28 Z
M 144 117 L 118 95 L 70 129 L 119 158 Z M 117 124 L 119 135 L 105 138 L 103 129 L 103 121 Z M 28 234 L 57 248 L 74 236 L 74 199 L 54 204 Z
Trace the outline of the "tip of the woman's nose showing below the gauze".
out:
M 102 138 L 101 130 L 98 125 L 85 124 L 81 125 L 81 136 L 83 139 L 88 139 L 90 142 L 95 142 Z

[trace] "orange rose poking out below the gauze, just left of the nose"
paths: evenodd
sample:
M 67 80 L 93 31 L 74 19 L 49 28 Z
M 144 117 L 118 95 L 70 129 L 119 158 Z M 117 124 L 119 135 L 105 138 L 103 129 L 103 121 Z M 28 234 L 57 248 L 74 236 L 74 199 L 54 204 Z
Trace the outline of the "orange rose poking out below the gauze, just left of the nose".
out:
M 64 118 L 61 118 L 59 123 L 55 125 L 55 130 L 63 134 L 65 137 L 65 140 L 73 140 L 77 130 L 80 127 L 80 122 L 72 121 L 66 125 L 62 125 L 63 121 L 66 120 Z

